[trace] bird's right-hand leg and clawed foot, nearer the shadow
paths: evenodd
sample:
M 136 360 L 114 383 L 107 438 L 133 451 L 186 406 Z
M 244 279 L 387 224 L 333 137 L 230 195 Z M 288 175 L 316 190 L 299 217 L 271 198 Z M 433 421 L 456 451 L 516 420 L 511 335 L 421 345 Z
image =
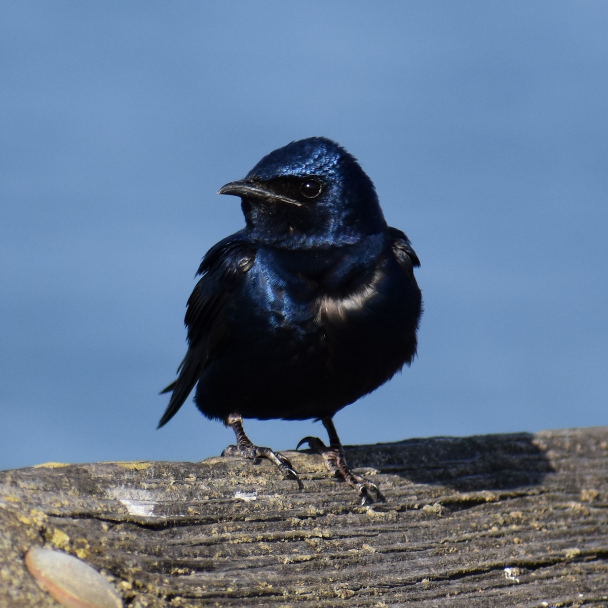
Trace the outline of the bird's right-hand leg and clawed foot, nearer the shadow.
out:
M 361 477 L 361 475 L 357 475 L 351 471 L 346 461 L 344 447 L 342 447 L 342 443 L 340 443 L 340 438 L 336 432 L 334 422 L 331 420 L 331 416 L 323 418 L 322 423 L 330 436 L 329 447 L 318 437 L 305 437 L 300 441 L 296 449 L 299 449 L 302 444 L 308 443 L 313 450 L 319 452 L 330 473 L 334 477 L 342 477 L 351 488 L 356 489 L 361 498 L 362 505 L 371 505 L 373 502 L 385 502 L 382 492 L 375 483 L 370 482 L 370 480 L 365 479 L 365 477 Z

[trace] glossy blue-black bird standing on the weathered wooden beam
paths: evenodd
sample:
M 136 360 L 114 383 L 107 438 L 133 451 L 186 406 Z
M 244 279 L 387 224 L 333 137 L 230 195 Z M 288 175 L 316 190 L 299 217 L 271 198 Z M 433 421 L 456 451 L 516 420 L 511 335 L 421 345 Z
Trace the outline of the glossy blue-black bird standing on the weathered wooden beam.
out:
M 196 387 L 195 403 L 236 444 L 224 455 L 266 458 L 302 481 L 280 452 L 256 446 L 243 419 L 322 421 L 329 444 L 305 437 L 361 504 L 384 502 L 348 466 L 333 416 L 416 355 L 423 311 L 409 238 L 389 227 L 359 162 L 326 137 L 272 151 L 219 188 L 241 200 L 245 227 L 202 259 L 187 302 L 188 349 L 158 427 Z

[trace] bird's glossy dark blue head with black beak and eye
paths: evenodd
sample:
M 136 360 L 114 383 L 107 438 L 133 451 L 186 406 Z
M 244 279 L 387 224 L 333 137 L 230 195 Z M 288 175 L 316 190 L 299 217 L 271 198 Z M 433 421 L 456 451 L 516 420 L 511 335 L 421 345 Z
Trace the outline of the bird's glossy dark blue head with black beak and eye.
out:
M 278 247 L 353 244 L 386 227 L 371 179 L 325 137 L 274 150 L 219 194 L 240 196 L 252 237 Z

